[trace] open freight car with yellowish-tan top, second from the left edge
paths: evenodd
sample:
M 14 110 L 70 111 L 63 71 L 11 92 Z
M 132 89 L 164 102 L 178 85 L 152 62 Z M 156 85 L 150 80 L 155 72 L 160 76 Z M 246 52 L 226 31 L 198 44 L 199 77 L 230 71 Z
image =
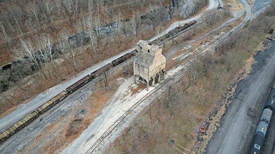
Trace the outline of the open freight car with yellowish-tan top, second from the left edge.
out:
M 39 113 L 43 113 L 43 112 L 47 111 L 49 108 L 51 108 L 52 106 L 54 106 L 55 104 L 60 102 L 66 96 L 68 96 L 68 92 L 62 91 L 61 93 L 59 93 L 58 95 L 56 95 L 55 97 L 53 97 L 52 99 L 47 101 L 45 104 L 43 104 L 39 108 L 37 108 L 37 111 Z

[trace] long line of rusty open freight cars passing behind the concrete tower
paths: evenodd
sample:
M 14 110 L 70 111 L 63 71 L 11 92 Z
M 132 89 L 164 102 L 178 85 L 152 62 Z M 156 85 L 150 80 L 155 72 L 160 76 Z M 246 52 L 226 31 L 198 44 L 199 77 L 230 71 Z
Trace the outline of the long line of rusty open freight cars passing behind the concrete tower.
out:
M 190 27 L 191 25 L 193 25 L 195 23 L 196 23 L 196 20 L 193 20 L 189 23 L 185 23 L 184 26 L 175 27 L 174 29 L 170 30 L 167 34 L 159 37 L 158 39 L 151 41 L 150 43 L 157 44 L 157 43 L 171 37 L 172 35 Z M 80 87 L 82 87 L 83 85 L 85 85 L 86 83 L 88 83 L 89 81 L 94 79 L 95 77 L 99 76 L 103 72 L 108 71 L 111 67 L 124 62 L 125 60 L 131 58 L 132 56 L 135 56 L 136 52 L 137 52 L 137 50 L 131 51 L 130 53 L 127 53 L 127 54 L 113 60 L 111 63 L 106 64 L 105 66 L 101 67 L 100 69 L 92 72 L 90 75 L 85 76 L 81 80 L 79 80 L 79 81 L 75 82 L 74 84 L 72 84 L 71 86 L 67 87 L 66 90 L 62 91 L 61 93 L 59 93 L 58 95 L 56 95 L 55 97 L 53 97 L 52 99 L 50 99 L 49 101 L 47 101 L 46 103 L 41 105 L 35 111 L 29 113 L 27 116 L 22 118 L 19 122 L 14 124 L 12 127 L 8 128 L 6 131 L 2 132 L 0 134 L 0 144 L 2 142 L 4 142 L 7 138 L 12 136 L 14 133 L 19 131 L 23 127 L 27 126 L 31 121 L 36 119 L 40 114 L 44 113 L 45 111 L 47 111 L 48 109 L 53 107 L 55 104 L 57 104 L 58 102 L 63 100 L 69 94 L 73 93 L 74 91 L 76 91 L 77 89 L 79 89 Z

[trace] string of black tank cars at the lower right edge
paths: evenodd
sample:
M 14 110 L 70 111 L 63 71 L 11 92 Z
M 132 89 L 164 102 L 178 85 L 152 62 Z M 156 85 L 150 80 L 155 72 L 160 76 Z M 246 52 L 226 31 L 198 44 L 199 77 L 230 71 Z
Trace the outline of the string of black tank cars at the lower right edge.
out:
M 258 123 L 256 132 L 254 134 L 254 138 L 252 141 L 252 147 L 250 148 L 248 154 L 260 154 L 262 150 L 264 137 L 266 135 L 266 131 L 268 125 L 271 121 L 272 112 L 275 109 L 275 84 L 271 90 L 271 95 L 267 99 L 266 104 L 264 105 L 264 109 L 262 111 L 260 121 Z

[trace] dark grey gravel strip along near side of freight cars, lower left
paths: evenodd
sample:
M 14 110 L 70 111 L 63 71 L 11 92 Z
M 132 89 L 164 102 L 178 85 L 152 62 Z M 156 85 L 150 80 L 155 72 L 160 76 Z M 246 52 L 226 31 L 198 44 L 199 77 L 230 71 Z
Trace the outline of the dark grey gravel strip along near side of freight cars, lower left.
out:
M 84 102 L 92 91 L 93 82 L 94 81 L 89 82 L 77 90 L 77 92 L 72 93 L 52 109 L 38 117 L 38 119 L 34 120 L 30 125 L 11 136 L 0 146 L 0 154 L 15 154 L 16 152 L 22 154 L 26 146 L 33 144 L 35 136 L 46 131 L 46 126 L 56 123 L 58 116 L 63 119 L 68 115 L 75 115 L 83 110 Z M 40 146 L 43 146 L 44 143 L 50 140 L 51 138 L 44 139 L 44 141 L 41 141 Z M 35 154 L 39 148 L 40 147 L 34 147 L 32 151 L 28 151 L 27 154 Z

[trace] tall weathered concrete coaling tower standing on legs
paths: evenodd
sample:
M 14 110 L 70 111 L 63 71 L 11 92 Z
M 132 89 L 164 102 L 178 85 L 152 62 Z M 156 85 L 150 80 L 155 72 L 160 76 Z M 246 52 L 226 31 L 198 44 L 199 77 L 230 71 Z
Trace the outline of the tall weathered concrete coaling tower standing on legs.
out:
M 160 81 L 164 75 L 166 57 L 162 54 L 162 48 L 158 45 L 149 44 L 144 40 L 136 43 L 137 53 L 133 62 L 133 75 L 143 78 L 149 85 Z

